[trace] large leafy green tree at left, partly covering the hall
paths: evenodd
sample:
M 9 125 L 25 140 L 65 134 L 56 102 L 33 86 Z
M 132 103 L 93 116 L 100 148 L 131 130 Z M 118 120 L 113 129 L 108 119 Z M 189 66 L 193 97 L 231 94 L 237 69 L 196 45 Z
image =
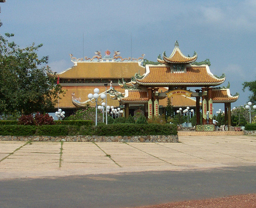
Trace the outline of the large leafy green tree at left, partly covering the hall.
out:
M 0 115 L 46 112 L 54 107 L 61 86 L 56 84 L 48 66 L 48 56 L 38 58 L 42 44 L 20 48 L 0 35 Z

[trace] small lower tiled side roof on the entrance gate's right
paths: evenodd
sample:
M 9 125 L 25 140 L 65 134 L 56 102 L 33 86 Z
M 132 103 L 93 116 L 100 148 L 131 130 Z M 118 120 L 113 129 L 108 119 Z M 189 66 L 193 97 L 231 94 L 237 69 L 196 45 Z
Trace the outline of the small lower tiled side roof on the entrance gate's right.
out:
M 213 89 L 212 97 L 214 103 L 233 103 L 239 98 L 239 96 L 231 96 L 229 89 Z

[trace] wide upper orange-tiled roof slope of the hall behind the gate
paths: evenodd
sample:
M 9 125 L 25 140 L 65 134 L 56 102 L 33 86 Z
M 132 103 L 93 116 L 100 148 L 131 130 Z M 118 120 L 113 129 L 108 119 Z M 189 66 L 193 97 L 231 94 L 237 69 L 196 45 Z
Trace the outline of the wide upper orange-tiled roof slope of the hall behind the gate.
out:
M 56 74 L 61 79 L 131 79 L 136 73 L 143 74 L 140 62 L 77 62 L 68 70 Z

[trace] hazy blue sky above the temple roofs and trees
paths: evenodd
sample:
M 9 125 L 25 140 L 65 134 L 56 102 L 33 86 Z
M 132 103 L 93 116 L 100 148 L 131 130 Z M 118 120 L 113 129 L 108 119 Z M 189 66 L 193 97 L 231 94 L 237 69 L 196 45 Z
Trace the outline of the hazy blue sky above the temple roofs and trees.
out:
M 225 73 L 223 85 L 229 81 L 231 94 L 240 94 L 232 107 L 248 101 L 242 83 L 256 79 L 255 0 L 7 0 L 0 6 L 0 33 L 14 33 L 20 47 L 43 43 L 38 54 L 49 55 L 56 72 L 73 65 L 69 54 L 93 57 L 95 51 L 156 61 L 164 51 L 170 55 L 178 40 L 184 55 L 196 51 L 197 61 L 210 59 L 213 74 Z

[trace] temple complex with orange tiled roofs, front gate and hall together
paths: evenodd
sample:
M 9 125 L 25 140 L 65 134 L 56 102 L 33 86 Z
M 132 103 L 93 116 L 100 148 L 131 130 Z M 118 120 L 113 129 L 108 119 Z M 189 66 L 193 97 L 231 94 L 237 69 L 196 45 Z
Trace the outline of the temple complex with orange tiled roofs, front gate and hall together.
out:
M 97 51 L 94 57 L 84 59 L 70 55 L 74 66 L 52 75 L 66 90 L 58 107 L 72 112 L 88 103 L 94 105 L 88 94 L 97 87 L 99 94 L 107 95 L 109 106 L 124 109 L 125 117 L 138 111 L 148 118 L 165 113 L 169 98 L 175 110 L 195 109 L 197 131 L 214 130 L 213 103 L 224 103 L 225 120 L 231 126 L 230 103 L 237 101 L 239 96 L 231 96 L 229 88 L 218 87 L 225 81 L 225 75 L 213 75 L 207 59 L 196 62 L 196 52 L 191 57 L 183 55 L 176 41 L 173 53 L 168 57 L 164 52 L 162 57 L 158 56 L 158 62 L 143 61 L 144 54 L 137 59 L 122 58 L 118 51 L 114 52 L 113 58 L 110 54 L 106 51 L 101 57 Z

